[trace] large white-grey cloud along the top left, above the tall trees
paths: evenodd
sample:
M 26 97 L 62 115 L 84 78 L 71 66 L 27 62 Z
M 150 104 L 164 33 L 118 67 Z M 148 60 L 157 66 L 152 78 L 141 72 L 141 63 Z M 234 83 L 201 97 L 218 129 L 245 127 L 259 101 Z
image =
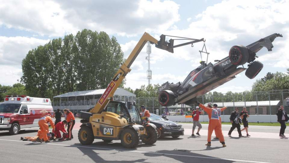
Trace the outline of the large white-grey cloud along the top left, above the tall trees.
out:
M 179 21 L 173 1 L 3 1 L 0 25 L 48 36 L 63 36 L 84 28 L 134 36 L 157 32 Z

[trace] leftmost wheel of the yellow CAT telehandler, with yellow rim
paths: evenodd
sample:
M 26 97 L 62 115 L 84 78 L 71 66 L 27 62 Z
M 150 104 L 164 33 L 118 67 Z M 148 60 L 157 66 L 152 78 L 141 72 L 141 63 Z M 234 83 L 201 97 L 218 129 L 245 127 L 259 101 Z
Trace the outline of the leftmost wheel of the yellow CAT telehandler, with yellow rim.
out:
M 78 131 L 78 140 L 82 145 L 90 145 L 94 141 L 92 128 L 88 126 L 81 127 Z

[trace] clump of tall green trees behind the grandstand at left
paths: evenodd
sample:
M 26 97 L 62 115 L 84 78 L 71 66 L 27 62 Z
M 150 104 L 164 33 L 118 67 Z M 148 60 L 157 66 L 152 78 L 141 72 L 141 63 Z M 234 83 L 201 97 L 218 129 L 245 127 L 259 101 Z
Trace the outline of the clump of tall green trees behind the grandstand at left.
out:
M 123 62 L 115 37 L 84 29 L 30 50 L 22 61 L 21 82 L 34 97 L 104 89 Z

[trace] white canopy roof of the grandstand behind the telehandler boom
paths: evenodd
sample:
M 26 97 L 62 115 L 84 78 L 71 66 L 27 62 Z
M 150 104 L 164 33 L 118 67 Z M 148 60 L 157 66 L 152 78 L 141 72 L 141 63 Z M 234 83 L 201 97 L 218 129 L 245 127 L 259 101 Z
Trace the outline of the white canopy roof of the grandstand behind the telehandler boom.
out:
M 71 96 L 88 96 L 88 95 L 102 95 L 105 89 L 97 89 L 97 90 L 89 90 L 89 91 L 75 91 L 75 92 L 68 92 L 61 95 L 54 96 L 53 98 L 64 98 L 64 97 L 71 97 Z M 117 88 L 114 95 L 121 95 L 121 96 L 134 96 L 134 93 L 131 93 L 123 88 Z

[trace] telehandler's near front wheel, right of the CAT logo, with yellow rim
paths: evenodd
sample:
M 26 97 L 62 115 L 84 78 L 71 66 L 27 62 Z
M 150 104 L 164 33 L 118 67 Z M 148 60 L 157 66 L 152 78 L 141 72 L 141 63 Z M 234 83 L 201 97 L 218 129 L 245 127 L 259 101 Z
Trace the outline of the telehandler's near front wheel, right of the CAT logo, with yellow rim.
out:
M 125 148 L 135 148 L 140 139 L 136 130 L 127 128 L 121 133 L 121 144 Z

